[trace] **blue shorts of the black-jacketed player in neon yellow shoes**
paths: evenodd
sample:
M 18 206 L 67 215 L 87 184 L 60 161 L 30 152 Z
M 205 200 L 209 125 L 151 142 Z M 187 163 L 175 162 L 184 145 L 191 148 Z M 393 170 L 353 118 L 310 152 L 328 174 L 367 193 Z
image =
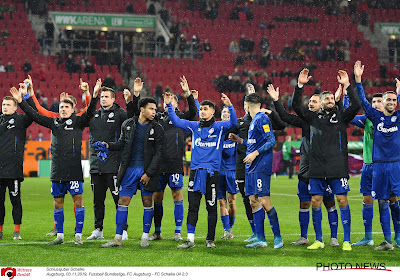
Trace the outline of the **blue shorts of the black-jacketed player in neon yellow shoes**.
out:
M 310 179 L 309 191 L 311 195 L 323 196 L 328 187 L 333 194 L 347 194 L 350 191 L 350 186 L 347 178 L 341 179 Z

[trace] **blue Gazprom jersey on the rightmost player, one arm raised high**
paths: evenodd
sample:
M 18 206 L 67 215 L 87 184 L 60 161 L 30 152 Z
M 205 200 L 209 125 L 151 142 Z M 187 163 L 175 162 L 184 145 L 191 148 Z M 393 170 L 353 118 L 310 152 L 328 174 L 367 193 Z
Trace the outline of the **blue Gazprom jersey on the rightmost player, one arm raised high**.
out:
M 400 160 L 400 113 L 395 111 L 391 116 L 385 116 L 369 104 L 365 98 L 361 83 L 357 83 L 357 93 L 368 119 L 374 125 L 374 142 L 372 160 L 388 162 Z

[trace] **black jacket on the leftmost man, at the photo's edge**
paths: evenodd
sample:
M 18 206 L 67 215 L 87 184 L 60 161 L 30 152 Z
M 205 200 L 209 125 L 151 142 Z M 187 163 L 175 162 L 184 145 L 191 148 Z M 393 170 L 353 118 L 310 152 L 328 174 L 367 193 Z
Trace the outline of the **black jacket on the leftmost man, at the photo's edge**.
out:
M 31 117 L 17 112 L 0 114 L 0 179 L 23 181 L 26 129 L 32 122 Z

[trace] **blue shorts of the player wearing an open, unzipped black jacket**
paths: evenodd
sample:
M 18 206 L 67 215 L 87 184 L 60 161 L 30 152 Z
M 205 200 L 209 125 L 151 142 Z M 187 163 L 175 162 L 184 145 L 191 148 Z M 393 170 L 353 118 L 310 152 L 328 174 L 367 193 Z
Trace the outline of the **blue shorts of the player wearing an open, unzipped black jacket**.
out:
M 132 197 L 138 189 L 142 192 L 142 196 L 153 196 L 153 193 L 145 191 L 144 185 L 140 183 L 143 173 L 143 167 L 128 167 L 119 188 L 119 196 Z

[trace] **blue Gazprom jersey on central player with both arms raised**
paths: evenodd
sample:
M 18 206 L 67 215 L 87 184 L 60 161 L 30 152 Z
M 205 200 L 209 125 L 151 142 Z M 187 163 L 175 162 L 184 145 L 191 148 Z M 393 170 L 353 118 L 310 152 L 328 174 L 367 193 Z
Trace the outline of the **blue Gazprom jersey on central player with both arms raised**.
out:
M 201 127 L 200 122 L 187 121 L 177 117 L 171 104 L 167 104 L 172 123 L 192 133 L 192 156 L 190 168 L 220 171 L 225 133 L 236 126 L 237 118 L 233 106 L 228 107 L 229 121 L 214 122 L 208 127 Z

